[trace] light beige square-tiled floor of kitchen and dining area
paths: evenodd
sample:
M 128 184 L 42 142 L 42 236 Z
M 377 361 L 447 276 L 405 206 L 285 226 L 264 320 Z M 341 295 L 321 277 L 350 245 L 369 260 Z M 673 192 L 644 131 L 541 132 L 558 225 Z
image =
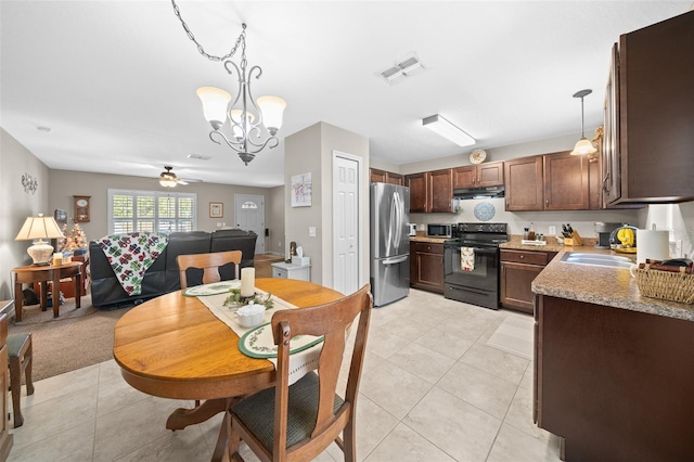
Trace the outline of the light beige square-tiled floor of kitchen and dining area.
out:
M 507 317 L 525 316 L 415 290 L 374 309 L 359 460 L 558 461 L 558 439 L 532 423 L 531 361 L 486 344 Z M 167 431 L 180 406 L 192 402 L 127 385 L 113 360 L 50 377 L 22 398 L 9 461 L 208 461 L 221 415 Z M 343 460 L 342 451 L 333 445 L 318 460 Z

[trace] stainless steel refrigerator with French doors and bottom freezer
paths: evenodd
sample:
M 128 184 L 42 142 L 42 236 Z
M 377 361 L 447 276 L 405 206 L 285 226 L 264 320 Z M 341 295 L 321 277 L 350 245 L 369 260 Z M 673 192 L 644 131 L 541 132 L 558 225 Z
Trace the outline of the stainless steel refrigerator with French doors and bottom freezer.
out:
M 410 293 L 410 189 L 371 183 L 371 293 L 374 306 Z

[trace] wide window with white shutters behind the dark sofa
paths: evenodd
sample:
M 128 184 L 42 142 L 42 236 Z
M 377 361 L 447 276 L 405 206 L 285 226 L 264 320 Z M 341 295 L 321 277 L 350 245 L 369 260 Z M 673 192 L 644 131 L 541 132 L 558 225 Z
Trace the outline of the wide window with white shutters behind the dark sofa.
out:
M 193 231 L 197 194 L 108 190 L 108 233 Z

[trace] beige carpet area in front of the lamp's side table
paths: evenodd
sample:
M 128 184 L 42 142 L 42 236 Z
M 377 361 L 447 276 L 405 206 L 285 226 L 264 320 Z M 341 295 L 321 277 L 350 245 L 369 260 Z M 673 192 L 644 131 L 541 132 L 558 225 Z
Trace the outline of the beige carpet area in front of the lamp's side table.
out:
M 66 299 L 59 318 L 53 318 L 50 307 L 41 311 L 39 305 L 28 306 L 22 322 L 10 321 L 9 333 L 31 333 L 33 380 L 37 382 L 112 359 L 114 326 L 130 308 L 97 309 L 89 294 L 81 297 L 81 308 L 75 307 L 74 298 Z

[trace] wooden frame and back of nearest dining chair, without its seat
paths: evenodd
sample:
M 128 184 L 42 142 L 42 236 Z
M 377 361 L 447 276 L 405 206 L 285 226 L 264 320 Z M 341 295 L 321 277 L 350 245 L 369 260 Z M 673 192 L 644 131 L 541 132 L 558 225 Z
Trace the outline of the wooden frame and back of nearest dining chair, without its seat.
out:
M 356 460 L 355 419 L 357 412 L 357 395 L 359 378 L 364 361 L 369 321 L 371 319 L 372 296 L 370 285 L 364 285 L 352 295 L 338 300 L 303 309 L 278 311 L 272 316 L 274 343 L 278 345 L 277 382 L 274 387 L 274 437 L 272 453 L 264 449 L 262 444 L 249 434 L 234 416 L 232 416 L 232 446 L 237 446 L 239 438 L 261 460 L 308 461 L 316 458 L 333 441 L 343 449 L 345 460 Z M 349 359 L 349 374 L 344 403 L 334 412 L 337 377 L 346 346 L 348 330 L 354 329 L 354 321 L 359 316 L 356 339 Z M 287 414 L 290 395 L 290 338 L 297 335 L 324 336 L 318 362 L 318 416 L 310 438 L 292 447 L 286 447 Z M 348 359 L 345 359 L 348 360 Z M 310 372 L 312 374 L 313 372 Z M 232 414 L 233 415 L 233 414 Z M 344 432 L 344 439 L 340 434 Z M 230 454 L 239 459 L 234 449 Z

